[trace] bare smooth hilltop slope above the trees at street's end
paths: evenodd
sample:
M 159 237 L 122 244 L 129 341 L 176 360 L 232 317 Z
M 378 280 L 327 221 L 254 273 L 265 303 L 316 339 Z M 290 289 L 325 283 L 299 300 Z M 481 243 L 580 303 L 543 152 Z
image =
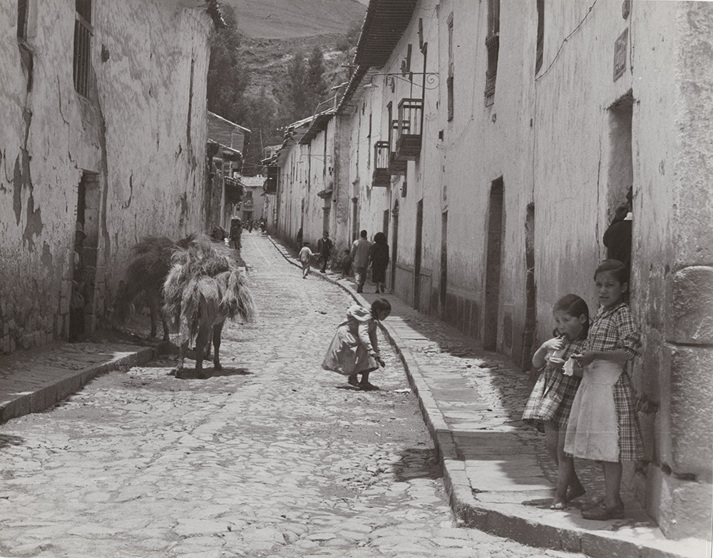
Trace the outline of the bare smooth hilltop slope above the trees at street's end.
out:
M 346 34 L 366 13 L 363 0 L 222 0 L 235 7 L 240 34 L 294 39 Z

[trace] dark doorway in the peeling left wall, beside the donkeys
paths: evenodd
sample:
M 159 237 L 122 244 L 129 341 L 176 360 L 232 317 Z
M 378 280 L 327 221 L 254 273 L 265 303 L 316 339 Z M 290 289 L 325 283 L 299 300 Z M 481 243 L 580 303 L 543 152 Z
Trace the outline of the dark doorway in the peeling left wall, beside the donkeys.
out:
M 94 329 L 100 200 L 98 173 L 83 172 L 77 188 L 74 269 L 69 304 L 70 341 L 82 340 Z

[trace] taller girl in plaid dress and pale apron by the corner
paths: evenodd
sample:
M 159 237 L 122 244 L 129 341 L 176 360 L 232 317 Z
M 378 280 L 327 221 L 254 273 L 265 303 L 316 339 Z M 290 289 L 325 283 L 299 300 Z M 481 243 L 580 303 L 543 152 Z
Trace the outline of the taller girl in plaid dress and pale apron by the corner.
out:
M 594 274 L 601 304 L 585 352 L 573 358 L 583 379 L 572 405 L 565 452 L 602 462 L 605 498 L 585 509 L 585 519 L 621 519 L 622 461 L 642 460 L 643 445 L 631 380 L 625 368 L 641 347 L 641 335 L 624 302 L 629 273 L 618 260 L 604 260 Z

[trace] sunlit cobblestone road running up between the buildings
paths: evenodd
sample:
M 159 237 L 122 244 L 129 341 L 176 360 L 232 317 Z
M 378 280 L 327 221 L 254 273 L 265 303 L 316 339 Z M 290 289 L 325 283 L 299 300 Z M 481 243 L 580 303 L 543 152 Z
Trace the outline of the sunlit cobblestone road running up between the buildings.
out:
M 260 320 L 220 375 L 156 360 L 0 427 L 2 557 L 567 556 L 458 528 L 394 351 L 379 392 L 321 370 L 350 299 L 243 242 Z

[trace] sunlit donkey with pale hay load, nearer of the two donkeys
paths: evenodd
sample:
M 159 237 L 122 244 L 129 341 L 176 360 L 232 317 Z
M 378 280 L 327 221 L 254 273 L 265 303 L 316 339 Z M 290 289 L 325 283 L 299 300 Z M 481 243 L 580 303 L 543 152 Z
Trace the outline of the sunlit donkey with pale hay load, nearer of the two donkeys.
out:
M 188 344 L 195 339 L 195 370 L 202 370 L 203 355 L 212 340 L 215 370 L 220 370 L 220 335 L 226 318 L 255 319 L 255 303 L 247 280 L 233 259 L 232 250 L 200 235 L 188 246 L 178 246 L 163 285 L 164 313 L 178 330 L 180 351 L 176 376 L 183 376 Z

